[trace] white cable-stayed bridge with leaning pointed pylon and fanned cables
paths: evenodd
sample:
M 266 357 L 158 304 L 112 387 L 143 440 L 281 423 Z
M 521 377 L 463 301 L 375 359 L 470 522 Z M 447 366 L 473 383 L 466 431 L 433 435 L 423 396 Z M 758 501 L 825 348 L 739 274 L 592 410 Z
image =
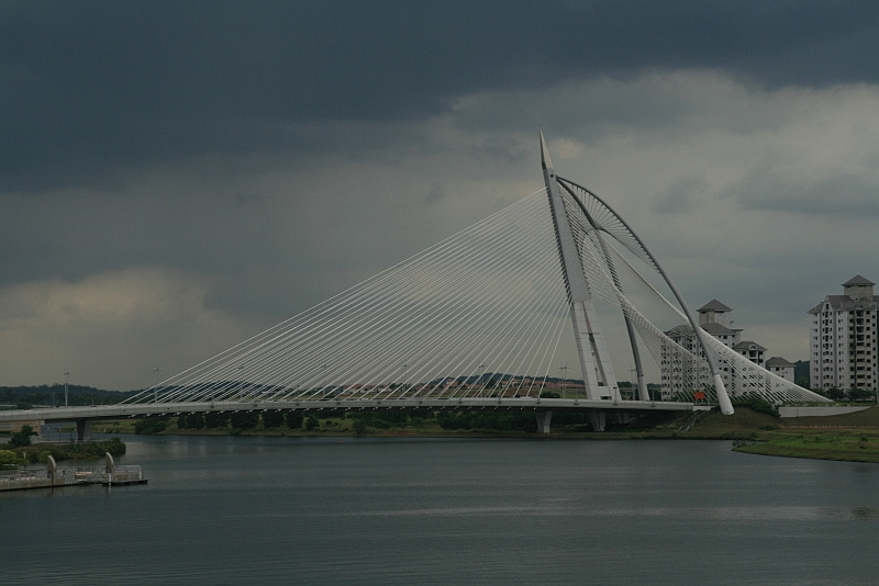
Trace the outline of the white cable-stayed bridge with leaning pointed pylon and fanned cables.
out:
M 609 415 L 701 397 L 725 414 L 742 397 L 826 401 L 700 328 L 628 224 L 556 174 L 543 136 L 541 147 L 545 189 L 371 279 L 119 405 L 0 421 L 76 420 L 82 439 L 91 420 L 143 415 L 502 408 L 534 410 L 548 431 L 553 410 L 580 409 L 603 430 Z M 623 358 L 611 356 L 609 323 L 627 338 Z M 621 364 L 634 365 L 627 387 Z

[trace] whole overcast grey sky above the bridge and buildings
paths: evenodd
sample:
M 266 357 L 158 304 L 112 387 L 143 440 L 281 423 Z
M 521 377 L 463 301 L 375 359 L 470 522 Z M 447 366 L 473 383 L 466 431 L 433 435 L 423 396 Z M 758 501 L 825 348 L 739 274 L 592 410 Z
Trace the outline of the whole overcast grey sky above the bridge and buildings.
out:
M 879 280 L 877 55 L 874 1 L 2 1 L 0 385 L 200 362 L 543 188 L 539 128 L 808 360 Z

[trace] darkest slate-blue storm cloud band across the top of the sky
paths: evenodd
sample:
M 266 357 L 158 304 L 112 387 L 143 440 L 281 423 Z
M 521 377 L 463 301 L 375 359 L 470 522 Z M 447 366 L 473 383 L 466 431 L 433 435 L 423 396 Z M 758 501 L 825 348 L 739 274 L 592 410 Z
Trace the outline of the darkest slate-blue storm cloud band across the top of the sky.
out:
M 877 24 L 874 2 L 7 2 L 0 190 L 331 148 L 309 124 L 421 119 L 468 92 L 645 68 L 874 81 Z

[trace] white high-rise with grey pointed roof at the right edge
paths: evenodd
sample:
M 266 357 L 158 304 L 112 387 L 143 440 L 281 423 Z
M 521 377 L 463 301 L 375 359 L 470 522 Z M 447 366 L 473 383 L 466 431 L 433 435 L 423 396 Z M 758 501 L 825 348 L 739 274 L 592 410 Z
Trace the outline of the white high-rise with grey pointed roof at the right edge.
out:
M 879 296 L 874 294 L 875 284 L 857 274 L 843 283 L 842 295 L 826 295 L 809 309 L 812 388 L 872 390 L 879 385 Z

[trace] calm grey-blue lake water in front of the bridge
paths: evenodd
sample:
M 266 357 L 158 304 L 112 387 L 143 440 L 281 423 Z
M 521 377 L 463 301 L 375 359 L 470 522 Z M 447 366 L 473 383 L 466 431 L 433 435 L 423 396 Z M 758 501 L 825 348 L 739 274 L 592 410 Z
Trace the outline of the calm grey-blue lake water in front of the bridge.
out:
M 0 583 L 878 584 L 879 465 L 720 441 L 124 438 L 0 494 Z

